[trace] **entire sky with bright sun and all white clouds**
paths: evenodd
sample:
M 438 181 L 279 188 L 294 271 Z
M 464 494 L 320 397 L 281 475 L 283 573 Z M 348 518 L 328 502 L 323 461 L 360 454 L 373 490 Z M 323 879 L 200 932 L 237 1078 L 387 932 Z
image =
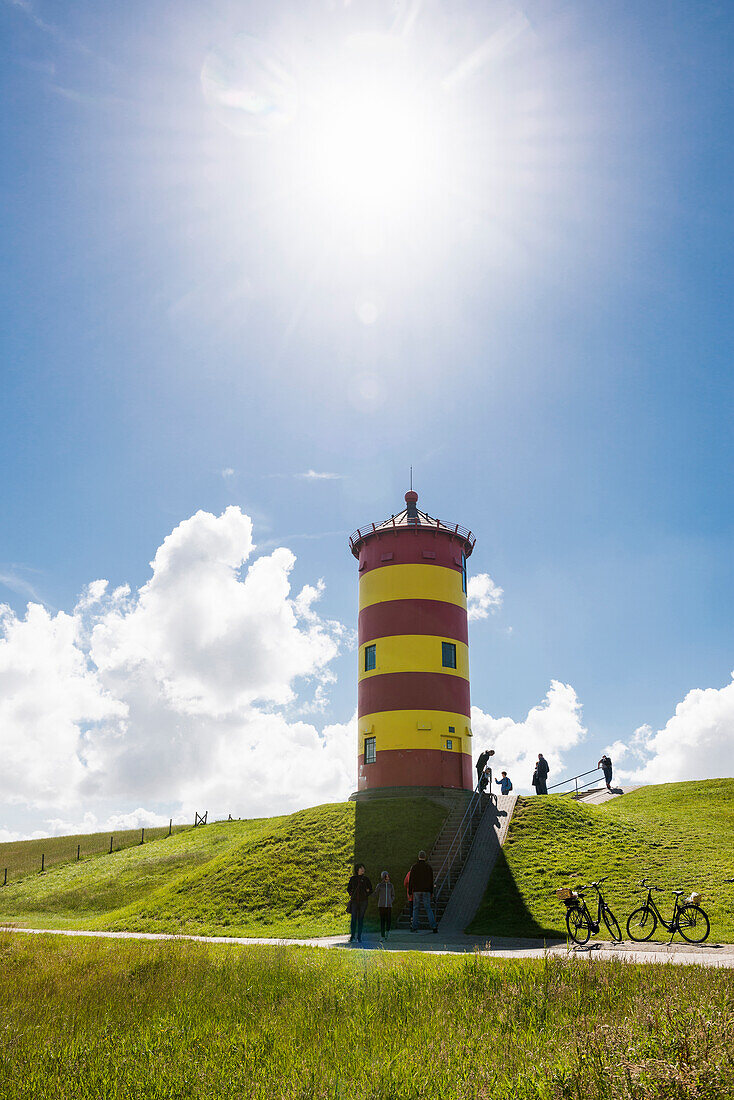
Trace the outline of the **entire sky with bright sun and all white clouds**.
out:
M 733 37 L 0 0 L 0 838 L 348 796 L 410 466 L 515 790 L 734 774 Z

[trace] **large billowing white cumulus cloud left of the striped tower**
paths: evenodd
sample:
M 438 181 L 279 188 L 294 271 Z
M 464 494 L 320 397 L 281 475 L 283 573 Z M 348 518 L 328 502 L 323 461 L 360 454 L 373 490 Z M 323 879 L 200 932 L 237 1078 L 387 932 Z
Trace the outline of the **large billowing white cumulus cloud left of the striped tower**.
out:
M 348 635 L 318 615 L 321 581 L 292 592 L 294 564 L 283 547 L 255 554 L 239 508 L 198 512 L 139 591 L 99 580 L 72 614 L 3 607 L 6 796 L 54 832 L 84 826 L 80 804 L 89 828 L 122 828 L 157 822 L 144 803 L 247 816 L 344 798 L 352 727 L 302 716 L 324 706 Z

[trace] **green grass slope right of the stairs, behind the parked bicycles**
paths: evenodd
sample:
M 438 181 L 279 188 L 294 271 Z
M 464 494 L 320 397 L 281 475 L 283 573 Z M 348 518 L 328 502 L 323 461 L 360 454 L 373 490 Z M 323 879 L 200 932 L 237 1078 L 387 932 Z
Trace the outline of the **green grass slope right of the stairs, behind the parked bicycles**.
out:
M 695 889 L 704 897 L 711 942 L 734 941 L 734 780 L 666 783 L 600 806 L 562 795 L 518 800 L 505 847 L 469 927 L 481 935 L 565 935 L 561 886 L 610 878 L 606 900 L 626 935 L 644 900 L 637 883 Z M 589 908 L 595 914 L 593 891 Z M 664 915 L 671 894 L 656 894 Z M 656 938 L 667 938 L 665 930 Z M 600 933 L 606 937 L 606 931 Z M 677 937 L 680 938 L 679 936 Z

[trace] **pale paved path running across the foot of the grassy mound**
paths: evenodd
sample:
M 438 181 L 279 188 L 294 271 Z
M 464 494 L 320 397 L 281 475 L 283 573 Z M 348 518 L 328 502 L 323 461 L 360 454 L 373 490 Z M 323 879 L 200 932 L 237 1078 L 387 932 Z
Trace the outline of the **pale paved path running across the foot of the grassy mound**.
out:
M 566 942 L 545 943 L 541 939 L 510 939 L 485 936 L 443 936 L 439 933 L 393 933 L 386 944 L 381 944 L 376 935 L 365 936 L 360 945 L 349 943 L 348 936 L 322 936 L 316 939 L 269 939 L 264 936 L 174 936 L 155 932 L 81 932 L 77 930 L 57 931 L 54 928 L 19 928 L 9 925 L 0 926 L 0 932 L 20 933 L 28 936 L 75 936 L 94 937 L 98 939 L 186 939 L 199 944 L 237 944 L 243 947 L 266 945 L 274 947 L 341 947 L 347 950 L 381 950 L 381 952 L 426 952 L 429 955 L 483 955 L 489 958 L 517 959 L 544 958 L 549 955 L 561 955 L 579 959 L 612 959 L 621 958 L 625 963 L 677 963 L 680 965 L 698 965 L 734 968 L 734 944 L 704 944 L 693 947 L 689 944 L 610 944 L 591 943 L 588 947 L 577 947 L 571 950 Z

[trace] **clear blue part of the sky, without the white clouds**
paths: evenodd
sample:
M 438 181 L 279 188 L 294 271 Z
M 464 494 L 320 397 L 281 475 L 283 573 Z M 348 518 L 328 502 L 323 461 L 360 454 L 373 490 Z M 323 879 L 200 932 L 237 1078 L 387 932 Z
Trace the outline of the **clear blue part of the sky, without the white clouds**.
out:
M 724 690 L 733 26 L 705 0 L 3 0 L 0 603 L 135 591 L 177 525 L 235 505 L 353 628 L 347 536 L 398 510 L 412 463 L 504 590 L 470 638 L 484 714 L 571 685 L 572 772 Z M 365 243 L 303 119 L 315 74 L 339 100 L 344 43 L 391 34 L 430 156 L 394 206 L 383 170 Z M 202 86 L 243 41 L 300 96 L 273 131 Z M 348 644 L 329 667 L 317 727 L 354 710 Z

